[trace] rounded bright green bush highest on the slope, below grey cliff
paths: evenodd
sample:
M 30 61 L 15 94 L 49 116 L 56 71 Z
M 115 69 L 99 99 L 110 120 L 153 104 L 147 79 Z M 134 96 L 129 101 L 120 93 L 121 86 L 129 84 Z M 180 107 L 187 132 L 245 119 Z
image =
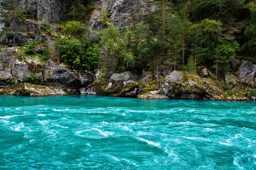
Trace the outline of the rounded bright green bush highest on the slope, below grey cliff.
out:
M 69 35 L 71 38 L 83 38 L 85 33 L 85 26 L 80 21 L 67 21 L 62 30 L 63 34 Z

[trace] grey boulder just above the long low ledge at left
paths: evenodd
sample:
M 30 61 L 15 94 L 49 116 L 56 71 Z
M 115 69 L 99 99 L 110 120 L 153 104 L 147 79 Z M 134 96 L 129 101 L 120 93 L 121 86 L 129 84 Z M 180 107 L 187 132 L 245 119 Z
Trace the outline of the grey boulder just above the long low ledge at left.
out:
M 92 83 L 93 75 L 90 71 L 80 73 L 70 71 L 49 59 L 44 67 L 44 81 L 49 86 L 78 89 Z

